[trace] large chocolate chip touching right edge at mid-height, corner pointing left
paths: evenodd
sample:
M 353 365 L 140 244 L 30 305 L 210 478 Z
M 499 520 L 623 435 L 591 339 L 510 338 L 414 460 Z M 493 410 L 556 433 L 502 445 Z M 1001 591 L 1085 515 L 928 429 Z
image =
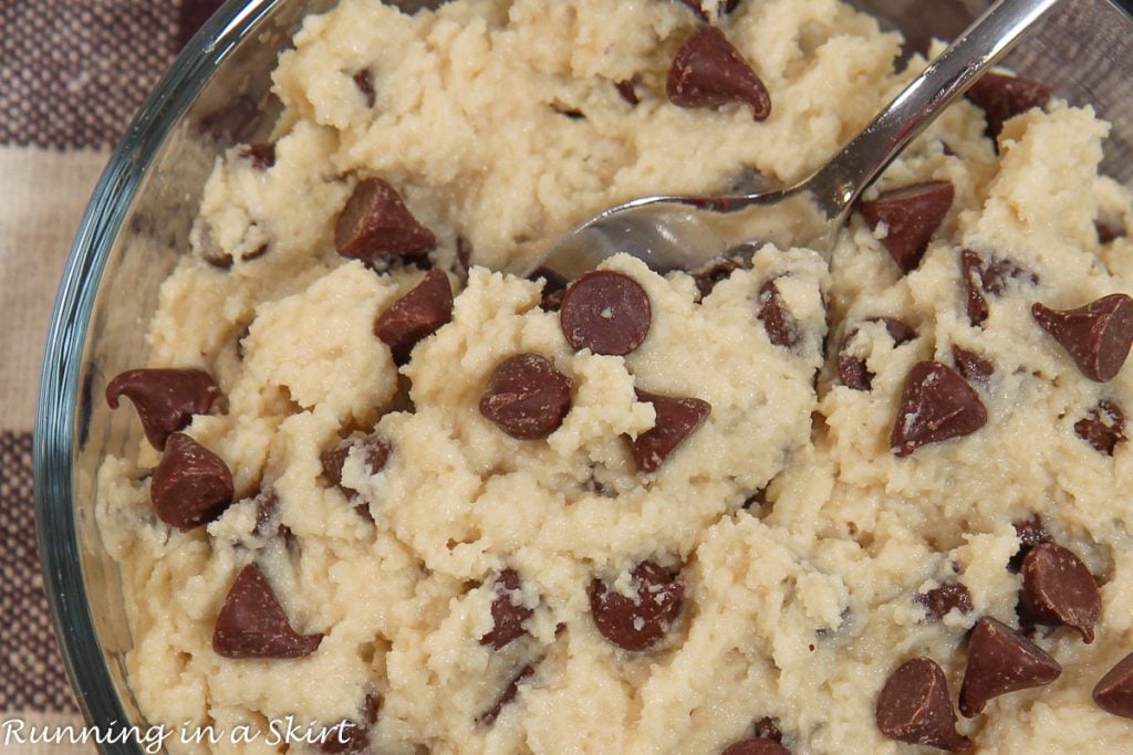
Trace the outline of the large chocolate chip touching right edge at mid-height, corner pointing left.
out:
M 1133 299 L 1124 293 L 1063 311 L 1036 303 L 1031 314 L 1070 353 L 1082 375 L 1098 383 L 1117 375 L 1133 344 Z

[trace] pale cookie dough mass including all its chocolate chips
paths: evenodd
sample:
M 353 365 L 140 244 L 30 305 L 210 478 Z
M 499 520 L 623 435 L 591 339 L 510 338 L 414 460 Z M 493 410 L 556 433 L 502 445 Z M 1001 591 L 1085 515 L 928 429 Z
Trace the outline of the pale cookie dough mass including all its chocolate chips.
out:
M 705 24 L 743 92 L 685 70 Z M 108 391 L 131 690 L 219 736 L 170 749 L 1133 748 L 1133 198 L 1089 108 L 986 80 L 826 255 L 516 275 L 631 197 L 801 178 L 900 51 L 836 0 L 309 17 L 162 288 L 177 371 Z

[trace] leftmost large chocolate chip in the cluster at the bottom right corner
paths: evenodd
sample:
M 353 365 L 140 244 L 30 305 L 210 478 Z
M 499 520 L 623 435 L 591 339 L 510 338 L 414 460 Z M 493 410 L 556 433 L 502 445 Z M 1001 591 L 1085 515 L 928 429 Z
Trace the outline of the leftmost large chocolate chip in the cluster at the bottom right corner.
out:
M 947 750 L 971 740 L 956 732 L 948 680 L 936 661 L 914 658 L 889 675 L 877 697 L 877 728 L 889 739 Z

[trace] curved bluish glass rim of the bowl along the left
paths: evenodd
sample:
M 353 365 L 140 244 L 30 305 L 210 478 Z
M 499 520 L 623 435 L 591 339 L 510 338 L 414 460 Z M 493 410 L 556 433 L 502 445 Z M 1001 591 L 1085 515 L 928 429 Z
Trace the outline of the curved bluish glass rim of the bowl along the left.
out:
M 227 0 L 177 55 L 114 148 L 76 232 L 51 315 L 33 432 L 35 529 L 48 606 L 67 677 L 92 737 L 137 724 L 122 707 L 84 582 L 75 511 L 77 397 L 96 293 L 114 240 L 172 129 L 214 71 L 284 0 Z M 93 401 L 93 398 L 88 398 Z M 136 741 L 100 744 L 140 753 Z

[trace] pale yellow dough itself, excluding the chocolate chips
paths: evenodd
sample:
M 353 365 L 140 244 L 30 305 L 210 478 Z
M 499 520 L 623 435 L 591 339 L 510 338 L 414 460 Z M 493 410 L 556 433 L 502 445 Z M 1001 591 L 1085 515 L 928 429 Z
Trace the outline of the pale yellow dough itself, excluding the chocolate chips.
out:
M 763 248 L 702 301 L 688 275 L 608 260 L 653 307 L 647 340 L 624 358 L 576 352 L 538 307 L 538 283 L 493 272 L 522 268 L 633 196 L 722 191 L 744 169 L 799 178 L 909 76 L 893 70 L 901 40 L 836 0 L 746 0 L 717 20 L 772 94 L 766 122 L 738 105 L 668 103 L 668 63 L 696 24 L 675 0 L 455 0 L 416 16 L 342 0 L 306 20 L 274 75 L 284 104 L 274 166 L 255 170 L 238 151 L 218 162 L 194 255 L 165 282 L 150 333 L 152 366 L 216 377 L 224 411 L 187 431 L 229 464 L 239 500 L 179 532 L 153 513 L 145 472 L 157 454 L 144 441 L 100 475 L 135 641 L 131 687 L 151 722 L 330 724 L 357 719 L 374 694 L 381 753 L 717 753 L 764 717 L 796 754 L 912 752 L 877 729 L 881 685 L 927 655 L 955 694 L 965 630 L 981 616 L 1015 620 L 1012 522 L 1038 513 L 1102 584 L 1098 637 L 1040 633 L 1062 678 L 999 697 L 960 729 L 987 753 L 1133 750 L 1133 722 L 1090 698 L 1133 651 L 1133 455 L 1126 443 L 1100 454 L 1074 431 L 1101 398 L 1133 411 L 1133 367 L 1091 383 L 1030 314 L 1034 301 L 1070 308 L 1133 290 L 1131 243 L 1102 248 L 1093 226 L 1127 224 L 1133 205 L 1098 175 L 1108 127 L 1089 108 L 1056 98 L 1013 119 L 997 155 L 982 112 L 954 105 L 867 195 L 928 180 L 955 188 L 905 276 L 885 229 L 858 215 L 825 258 Z M 364 68 L 373 110 L 351 80 Z M 634 76 L 631 106 L 614 83 Z M 452 277 L 452 323 L 400 377 L 373 324 L 423 274 L 377 274 L 333 246 L 335 216 L 369 175 L 437 235 L 438 267 L 452 267 L 458 238 L 478 265 Z M 264 256 L 240 258 L 263 243 Z M 988 297 L 982 328 L 964 309 L 964 248 L 1038 277 Z M 233 256 L 230 271 L 203 260 L 218 250 Z M 772 280 L 802 334 L 791 350 L 756 317 Z M 917 337 L 895 345 L 862 324 L 879 316 Z M 868 392 L 837 379 L 853 327 Z M 925 359 L 952 364 L 953 345 L 995 362 L 977 384 L 986 427 L 895 456 L 905 376 Z M 520 352 L 574 384 L 546 440 L 511 438 L 477 409 L 494 367 Z M 634 387 L 712 405 L 651 475 L 636 472 L 625 440 L 655 421 Z M 373 475 L 350 456 L 343 482 L 359 498 L 348 501 L 321 479 L 318 456 L 363 431 L 393 451 Z M 255 534 L 263 491 L 298 548 Z M 758 491 L 766 503 L 746 507 Z M 633 653 L 597 632 L 587 587 L 597 576 L 624 589 L 644 559 L 680 569 L 685 601 L 670 636 Z M 213 652 L 216 614 L 252 561 L 298 630 L 325 633 L 313 655 Z M 479 637 L 504 567 L 522 575 L 534 614 L 527 636 L 493 651 Z M 947 578 L 969 587 L 973 611 L 930 621 L 913 597 Z M 477 723 L 528 664 L 495 723 Z M 274 752 L 269 741 L 212 749 Z

